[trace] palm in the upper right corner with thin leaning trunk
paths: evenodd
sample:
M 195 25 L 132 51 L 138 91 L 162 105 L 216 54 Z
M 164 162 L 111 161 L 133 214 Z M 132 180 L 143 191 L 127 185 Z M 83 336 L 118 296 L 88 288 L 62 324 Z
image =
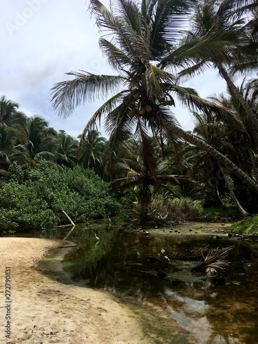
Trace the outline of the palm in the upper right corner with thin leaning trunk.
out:
M 258 147 L 258 119 L 255 116 L 255 111 L 248 104 L 239 87 L 233 83 L 233 78 L 230 76 L 231 72 L 249 72 L 257 69 L 257 49 L 252 39 L 246 32 L 246 21 L 248 16 L 243 17 L 243 14 L 255 12 L 258 8 L 257 1 L 215 1 L 206 0 L 198 3 L 195 8 L 195 15 L 192 19 L 191 31 L 184 37 L 184 45 L 181 49 L 187 46 L 189 58 L 195 60 L 195 65 L 187 68 L 180 73 L 181 76 L 193 75 L 200 70 L 204 71 L 204 65 L 213 64 L 219 70 L 219 74 L 224 78 L 230 92 L 239 100 L 242 107 L 246 111 L 249 127 L 252 132 L 252 137 Z M 249 24 L 250 26 L 250 24 Z M 198 47 L 202 46 L 203 42 L 213 38 L 213 36 L 220 35 L 225 43 L 220 49 L 216 45 L 209 51 L 199 52 Z M 180 50 L 179 50 L 180 51 Z M 194 56 L 195 54 L 195 56 Z M 196 58 L 197 57 L 197 58 Z

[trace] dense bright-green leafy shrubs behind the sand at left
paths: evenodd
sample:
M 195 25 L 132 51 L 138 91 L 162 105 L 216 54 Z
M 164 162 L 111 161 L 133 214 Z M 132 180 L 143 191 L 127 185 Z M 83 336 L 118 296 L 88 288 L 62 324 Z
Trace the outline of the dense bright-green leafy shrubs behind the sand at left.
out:
M 67 223 L 61 209 L 74 222 L 115 215 L 120 204 L 109 185 L 92 170 L 38 160 L 34 169 L 13 163 L 10 180 L 1 184 L 1 231 L 43 229 Z

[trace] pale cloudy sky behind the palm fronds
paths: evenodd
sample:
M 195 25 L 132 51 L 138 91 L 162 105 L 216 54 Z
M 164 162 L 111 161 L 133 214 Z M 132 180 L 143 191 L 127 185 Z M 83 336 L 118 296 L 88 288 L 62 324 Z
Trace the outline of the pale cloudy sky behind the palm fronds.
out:
M 109 0 L 102 1 L 108 6 Z M 52 108 L 50 89 L 70 80 L 66 72 L 83 69 L 93 74 L 114 74 L 98 47 L 100 34 L 87 11 L 88 0 L 0 0 L 0 96 L 19 103 L 26 116 L 41 116 L 56 131 L 76 138 L 100 107 L 100 100 L 82 105 L 68 118 Z M 224 81 L 208 71 L 184 86 L 203 98 L 224 91 Z M 184 130 L 193 118 L 178 103 L 173 113 Z M 100 128 L 107 137 L 103 126 Z

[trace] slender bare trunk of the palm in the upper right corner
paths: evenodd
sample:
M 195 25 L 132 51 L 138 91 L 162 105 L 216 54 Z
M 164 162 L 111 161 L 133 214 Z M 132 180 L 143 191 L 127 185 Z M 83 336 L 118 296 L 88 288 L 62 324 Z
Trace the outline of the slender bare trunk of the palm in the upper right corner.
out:
M 221 64 L 216 63 L 217 68 L 219 69 L 219 73 L 222 75 L 224 80 L 226 81 L 226 84 L 228 85 L 228 88 L 233 92 L 235 97 L 239 100 L 242 107 L 244 107 L 244 110 L 246 111 L 248 124 L 250 126 L 250 131 L 252 133 L 252 138 L 255 140 L 255 144 L 258 148 L 258 137 L 257 137 L 257 129 L 258 129 L 258 120 L 255 116 L 255 114 L 252 111 L 252 108 L 249 106 L 248 103 L 246 103 L 246 100 L 244 99 L 241 92 L 239 92 L 239 89 L 235 86 L 233 81 L 231 80 L 230 76 L 228 75 L 228 72 L 222 67 Z M 256 129 L 256 130 L 255 130 Z

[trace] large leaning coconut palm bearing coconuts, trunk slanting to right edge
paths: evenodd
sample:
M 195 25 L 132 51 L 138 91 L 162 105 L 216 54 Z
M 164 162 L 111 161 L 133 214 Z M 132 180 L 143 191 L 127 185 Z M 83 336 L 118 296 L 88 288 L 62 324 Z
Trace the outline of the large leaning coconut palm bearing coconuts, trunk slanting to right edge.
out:
M 107 96 L 110 91 L 120 91 L 111 96 L 87 123 L 85 133 L 96 120 L 105 114 L 105 129 L 110 134 L 109 169 L 112 165 L 114 147 L 128 138 L 132 130 L 140 138 L 144 147 L 144 159 L 151 173 L 155 175 L 153 160 L 148 155 L 147 136 L 149 129 L 153 135 L 162 136 L 172 132 L 184 140 L 208 151 L 219 162 L 233 171 L 258 193 L 258 184 L 233 162 L 208 145 L 204 140 L 180 128 L 168 105 L 175 105 L 173 96 L 186 106 L 202 111 L 221 111 L 208 100 L 203 100 L 188 87 L 179 86 L 169 70 L 182 61 L 187 63 L 187 54 L 178 58 L 175 43 L 180 29 L 189 19 L 192 1 L 179 0 L 116 0 L 108 10 L 98 0 L 90 0 L 89 9 L 96 16 L 96 23 L 103 36 L 100 48 L 118 75 L 95 75 L 88 72 L 69 72 L 74 80 L 57 83 L 53 87 L 54 108 L 60 114 L 68 115 L 83 101 L 98 96 Z M 213 36 L 203 44 L 207 47 L 225 45 L 224 37 Z M 200 48 L 199 48 L 200 50 Z M 182 51 L 182 50 L 181 50 Z M 173 57 L 174 56 L 174 57 Z M 180 62 L 178 62 L 180 61 Z

